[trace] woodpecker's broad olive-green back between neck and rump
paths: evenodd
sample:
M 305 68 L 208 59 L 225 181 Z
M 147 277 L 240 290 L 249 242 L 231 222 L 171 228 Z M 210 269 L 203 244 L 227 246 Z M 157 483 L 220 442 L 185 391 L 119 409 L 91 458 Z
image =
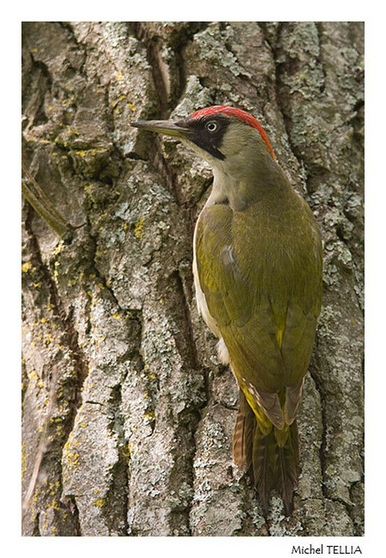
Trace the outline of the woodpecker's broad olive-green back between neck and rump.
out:
M 235 373 L 279 391 L 306 374 L 322 297 L 322 246 L 290 189 L 245 211 L 205 208 L 196 233 L 200 286 Z

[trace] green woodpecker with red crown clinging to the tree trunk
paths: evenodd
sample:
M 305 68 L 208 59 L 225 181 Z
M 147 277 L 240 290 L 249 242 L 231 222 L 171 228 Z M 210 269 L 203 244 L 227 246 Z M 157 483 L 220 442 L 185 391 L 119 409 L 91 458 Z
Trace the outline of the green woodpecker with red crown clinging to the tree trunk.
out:
M 248 112 L 214 106 L 132 125 L 176 136 L 213 170 L 193 240 L 198 310 L 239 387 L 235 464 L 252 465 L 266 511 L 276 488 L 288 515 L 299 477 L 297 409 L 322 299 L 316 220 Z

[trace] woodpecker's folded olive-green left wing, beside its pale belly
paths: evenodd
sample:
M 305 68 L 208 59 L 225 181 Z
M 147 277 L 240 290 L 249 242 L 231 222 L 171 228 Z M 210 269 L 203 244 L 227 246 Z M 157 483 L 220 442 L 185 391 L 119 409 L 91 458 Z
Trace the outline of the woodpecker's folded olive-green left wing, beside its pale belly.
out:
M 254 400 L 281 428 L 284 421 L 279 397 L 265 389 L 264 381 L 283 376 L 272 311 L 260 307 L 257 316 L 255 289 L 237 264 L 233 250 L 230 207 L 218 204 L 205 209 L 195 235 L 200 287 L 228 348 L 239 386 L 250 394 L 248 402 L 257 410 Z

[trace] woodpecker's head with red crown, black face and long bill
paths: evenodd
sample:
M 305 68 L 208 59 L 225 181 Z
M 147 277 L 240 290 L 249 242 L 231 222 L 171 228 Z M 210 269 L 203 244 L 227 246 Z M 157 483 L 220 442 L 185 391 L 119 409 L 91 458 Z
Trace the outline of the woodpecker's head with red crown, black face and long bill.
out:
M 245 110 L 213 106 L 193 112 L 177 122 L 148 120 L 132 126 L 172 135 L 193 148 L 214 172 L 236 176 L 251 167 L 276 165 L 273 149 L 262 126 Z

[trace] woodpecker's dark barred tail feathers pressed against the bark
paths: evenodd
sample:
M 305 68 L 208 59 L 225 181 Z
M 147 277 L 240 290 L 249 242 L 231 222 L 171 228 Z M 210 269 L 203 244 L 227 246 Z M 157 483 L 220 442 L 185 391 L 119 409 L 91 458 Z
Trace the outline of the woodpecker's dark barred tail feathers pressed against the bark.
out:
M 252 464 L 253 481 L 265 511 L 269 493 L 276 489 L 283 498 L 285 514 L 290 515 L 292 494 L 299 478 L 297 420 L 281 430 L 272 425 L 269 434 L 263 434 L 251 407 L 240 395 L 233 455 L 235 463 L 244 470 Z

